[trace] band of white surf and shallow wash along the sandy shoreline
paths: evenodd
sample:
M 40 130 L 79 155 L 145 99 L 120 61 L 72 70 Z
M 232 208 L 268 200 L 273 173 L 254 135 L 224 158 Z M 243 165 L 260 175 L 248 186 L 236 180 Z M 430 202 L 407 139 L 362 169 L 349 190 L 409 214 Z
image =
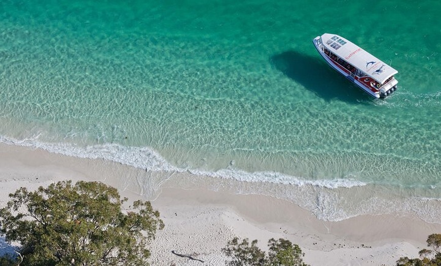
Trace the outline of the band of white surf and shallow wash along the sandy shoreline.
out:
M 27 147 L 30 150 L 41 149 L 80 160 L 91 159 L 102 165 L 107 162 L 108 165 L 121 164 L 122 167 L 115 167 L 115 171 L 120 173 L 115 180 L 117 183 L 123 181 L 126 186 L 118 188 L 137 191 L 149 200 L 157 196 L 160 186 L 206 188 L 233 194 L 275 196 L 309 210 L 318 219 L 326 221 L 342 221 L 360 215 L 390 214 L 402 217 L 417 216 L 429 223 L 441 222 L 441 186 L 429 188 L 406 183 L 366 183 L 339 178 L 309 180 L 285 176 L 279 172 L 246 172 L 235 168 L 234 163 L 211 171 L 182 168 L 169 163 L 150 147 L 120 144 L 83 147 L 29 139 L 20 141 L 3 136 L 0 136 L 0 143 Z M 395 167 L 399 168 L 397 165 Z M 105 176 L 109 174 L 106 173 Z M 92 178 L 99 176 L 99 173 L 94 174 Z

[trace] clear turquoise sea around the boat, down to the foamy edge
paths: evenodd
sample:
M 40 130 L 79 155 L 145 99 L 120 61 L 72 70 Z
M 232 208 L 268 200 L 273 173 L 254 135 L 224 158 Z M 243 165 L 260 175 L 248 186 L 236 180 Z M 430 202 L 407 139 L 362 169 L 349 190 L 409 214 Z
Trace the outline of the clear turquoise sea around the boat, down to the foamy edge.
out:
M 2 142 L 285 184 L 249 193 L 441 199 L 440 2 L 41 2 L 0 3 Z M 330 69 L 324 32 L 390 63 L 397 92 Z

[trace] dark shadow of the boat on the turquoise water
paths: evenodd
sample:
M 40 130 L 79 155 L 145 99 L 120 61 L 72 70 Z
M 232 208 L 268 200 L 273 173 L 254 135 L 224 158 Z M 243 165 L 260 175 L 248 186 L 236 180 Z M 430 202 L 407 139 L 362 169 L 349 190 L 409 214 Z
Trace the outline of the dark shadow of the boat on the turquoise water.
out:
M 296 51 L 286 51 L 271 56 L 270 60 L 277 70 L 326 101 L 340 99 L 356 104 L 370 98 L 369 95 L 330 68 L 319 56 L 314 57 Z

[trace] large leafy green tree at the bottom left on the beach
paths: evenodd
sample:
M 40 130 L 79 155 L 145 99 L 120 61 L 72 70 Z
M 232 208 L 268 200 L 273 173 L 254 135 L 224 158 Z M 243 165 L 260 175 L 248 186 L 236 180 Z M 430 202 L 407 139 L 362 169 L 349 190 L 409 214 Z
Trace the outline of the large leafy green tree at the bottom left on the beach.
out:
M 150 202 L 122 212 L 118 190 L 100 182 L 22 187 L 0 209 L 0 231 L 17 241 L 21 265 L 146 265 L 146 245 L 164 224 Z

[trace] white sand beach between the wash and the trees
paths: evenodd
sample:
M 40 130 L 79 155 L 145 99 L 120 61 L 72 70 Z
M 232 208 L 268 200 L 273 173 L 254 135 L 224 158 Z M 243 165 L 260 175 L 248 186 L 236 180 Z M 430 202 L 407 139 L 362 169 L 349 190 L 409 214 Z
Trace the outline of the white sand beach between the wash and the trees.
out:
M 225 265 L 220 249 L 234 236 L 257 239 L 262 249 L 270 238 L 288 239 L 302 248 L 305 262 L 311 265 L 394 265 L 401 256 L 417 257 L 427 236 L 441 232 L 441 224 L 415 217 L 321 221 L 311 212 L 271 196 L 237 195 L 203 186 L 188 189 L 179 182 L 183 177 L 192 178 L 188 175 L 149 173 L 101 159 L 0 144 L 1 207 L 19 187 L 34 190 L 68 179 L 102 181 L 117 187 L 129 202 L 151 200 L 165 223 L 152 243 L 152 265 Z M 204 262 L 176 256 L 172 250 Z

